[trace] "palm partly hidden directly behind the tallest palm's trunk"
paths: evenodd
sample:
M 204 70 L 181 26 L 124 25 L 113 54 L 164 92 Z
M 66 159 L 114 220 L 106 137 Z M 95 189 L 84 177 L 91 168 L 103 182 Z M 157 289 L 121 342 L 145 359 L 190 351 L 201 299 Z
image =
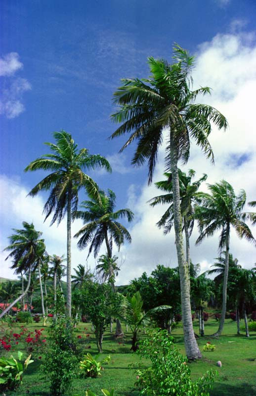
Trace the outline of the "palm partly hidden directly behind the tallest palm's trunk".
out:
M 192 178 L 195 176 L 195 171 L 189 169 L 188 176 L 178 169 L 179 176 L 179 196 L 180 196 L 180 210 L 183 222 L 183 230 L 185 232 L 186 242 L 186 261 L 188 265 L 188 271 L 190 267 L 190 246 L 189 238 L 194 228 L 194 209 L 193 204 L 196 202 L 196 194 L 202 182 L 206 181 L 207 175 L 204 174 L 199 180 L 191 183 Z M 159 222 L 157 223 L 159 228 L 164 227 L 164 233 L 168 234 L 173 226 L 173 194 L 172 194 L 172 175 L 171 173 L 165 173 L 167 180 L 163 180 L 155 183 L 156 187 L 160 190 L 168 192 L 167 194 L 150 199 L 151 206 L 155 206 L 159 203 L 169 204 L 170 206 L 163 214 Z

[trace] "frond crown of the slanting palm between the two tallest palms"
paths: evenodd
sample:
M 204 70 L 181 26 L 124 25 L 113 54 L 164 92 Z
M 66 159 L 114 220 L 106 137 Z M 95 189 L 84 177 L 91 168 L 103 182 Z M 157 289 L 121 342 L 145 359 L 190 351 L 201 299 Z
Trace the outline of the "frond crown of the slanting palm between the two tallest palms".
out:
M 90 200 L 85 200 L 80 205 L 85 210 L 78 210 L 75 217 L 82 219 L 85 226 L 75 235 L 79 238 L 78 247 L 84 249 L 89 245 L 87 257 L 93 250 L 96 258 L 99 249 L 105 241 L 107 254 L 112 257 L 113 240 L 120 249 L 125 240 L 131 242 L 131 236 L 128 230 L 117 220 L 127 218 L 128 222 L 132 221 L 133 213 L 130 209 L 119 209 L 114 211 L 116 204 L 116 195 L 113 191 L 108 190 L 107 194 L 100 191 L 98 197 L 88 194 Z

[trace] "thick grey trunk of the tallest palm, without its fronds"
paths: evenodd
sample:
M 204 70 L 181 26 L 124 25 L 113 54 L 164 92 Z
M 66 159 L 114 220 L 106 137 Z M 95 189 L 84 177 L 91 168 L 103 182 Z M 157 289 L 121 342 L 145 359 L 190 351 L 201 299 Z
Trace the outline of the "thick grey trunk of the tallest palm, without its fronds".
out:
M 173 220 L 175 230 L 175 245 L 177 250 L 180 291 L 181 291 L 181 308 L 182 322 L 184 332 L 184 343 L 186 355 L 189 359 L 201 358 L 201 352 L 196 342 L 190 305 L 190 287 L 187 262 L 185 259 L 183 239 L 182 239 L 182 223 L 180 213 L 180 196 L 179 196 L 179 179 L 177 167 L 177 149 L 174 144 L 173 135 L 170 131 L 170 160 L 172 174 L 172 192 L 173 192 Z

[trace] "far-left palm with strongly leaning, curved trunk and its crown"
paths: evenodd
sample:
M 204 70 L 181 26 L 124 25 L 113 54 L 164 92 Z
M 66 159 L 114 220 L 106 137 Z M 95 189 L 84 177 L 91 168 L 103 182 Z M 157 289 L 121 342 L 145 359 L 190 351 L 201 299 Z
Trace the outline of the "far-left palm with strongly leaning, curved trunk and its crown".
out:
M 25 291 L 0 313 L 0 318 L 28 293 L 31 272 L 35 270 L 38 257 L 45 249 L 44 240 L 40 239 L 42 232 L 36 231 L 33 223 L 23 221 L 22 225 L 24 228 L 21 230 L 13 229 L 15 234 L 9 237 L 10 245 L 4 250 L 10 251 L 6 260 L 12 258 L 11 269 L 14 269 L 16 274 L 28 273 L 28 283 Z

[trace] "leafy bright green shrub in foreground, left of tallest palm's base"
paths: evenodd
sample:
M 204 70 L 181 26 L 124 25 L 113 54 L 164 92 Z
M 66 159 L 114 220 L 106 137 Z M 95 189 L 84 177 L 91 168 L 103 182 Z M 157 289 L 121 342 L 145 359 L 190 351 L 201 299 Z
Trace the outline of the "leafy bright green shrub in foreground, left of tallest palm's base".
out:
M 137 353 L 151 360 L 151 367 L 136 370 L 141 395 L 209 396 L 216 371 L 192 381 L 187 359 L 173 345 L 167 331 L 152 331 Z

